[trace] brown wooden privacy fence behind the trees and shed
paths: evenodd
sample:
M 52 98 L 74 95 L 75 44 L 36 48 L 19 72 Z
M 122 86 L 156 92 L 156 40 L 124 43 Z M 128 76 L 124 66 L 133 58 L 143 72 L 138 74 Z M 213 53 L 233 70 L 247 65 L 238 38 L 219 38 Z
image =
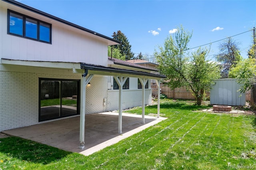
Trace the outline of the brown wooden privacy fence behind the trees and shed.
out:
M 152 88 L 152 96 L 156 96 L 157 94 L 157 85 L 151 84 Z M 188 100 L 195 100 L 195 97 L 189 90 L 186 90 L 185 87 L 182 88 L 175 88 L 171 90 L 168 86 L 164 86 L 163 84 L 160 85 L 161 93 L 165 94 L 167 98 L 174 98 L 174 99 L 188 99 Z M 250 90 L 246 92 L 246 101 L 251 100 Z M 210 92 L 206 93 L 206 97 L 210 96 Z

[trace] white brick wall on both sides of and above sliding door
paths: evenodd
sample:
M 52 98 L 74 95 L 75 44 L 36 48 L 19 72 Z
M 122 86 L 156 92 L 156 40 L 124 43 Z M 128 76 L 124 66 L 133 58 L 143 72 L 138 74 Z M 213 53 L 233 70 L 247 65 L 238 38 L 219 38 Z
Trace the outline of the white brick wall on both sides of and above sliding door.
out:
M 21 70 L 26 70 L 20 67 Z M 42 69 L 36 73 L 0 71 L 0 131 L 38 123 L 38 78 L 80 79 L 68 70 Z M 40 73 L 41 72 L 41 73 Z M 51 73 L 56 72 L 56 75 Z M 94 76 L 86 88 L 86 113 L 106 111 L 108 78 Z M 100 88 L 103 86 L 104 88 Z M 103 90 L 104 89 L 104 90 Z

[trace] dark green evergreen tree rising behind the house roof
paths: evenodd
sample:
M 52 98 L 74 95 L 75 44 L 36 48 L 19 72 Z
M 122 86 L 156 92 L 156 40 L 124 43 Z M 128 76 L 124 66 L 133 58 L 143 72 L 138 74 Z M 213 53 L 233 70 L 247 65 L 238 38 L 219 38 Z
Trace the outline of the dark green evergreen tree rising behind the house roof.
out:
M 132 53 L 131 48 L 132 45 L 130 45 L 127 37 L 122 33 L 120 30 L 113 33 L 112 35 L 113 39 L 116 39 L 118 41 L 121 41 L 121 44 L 113 45 L 114 48 L 119 49 L 120 53 L 125 56 L 126 60 L 131 60 L 134 58 L 134 53 Z

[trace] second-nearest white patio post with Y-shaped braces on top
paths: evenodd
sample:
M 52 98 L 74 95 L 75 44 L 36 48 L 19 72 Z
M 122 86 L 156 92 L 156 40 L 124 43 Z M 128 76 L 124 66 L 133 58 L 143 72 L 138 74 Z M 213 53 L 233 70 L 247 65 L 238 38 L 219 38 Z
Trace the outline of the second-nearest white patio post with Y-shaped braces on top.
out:
M 118 114 L 118 133 L 122 133 L 122 96 L 123 96 L 123 85 L 127 80 L 127 77 L 114 76 L 119 86 L 119 114 Z

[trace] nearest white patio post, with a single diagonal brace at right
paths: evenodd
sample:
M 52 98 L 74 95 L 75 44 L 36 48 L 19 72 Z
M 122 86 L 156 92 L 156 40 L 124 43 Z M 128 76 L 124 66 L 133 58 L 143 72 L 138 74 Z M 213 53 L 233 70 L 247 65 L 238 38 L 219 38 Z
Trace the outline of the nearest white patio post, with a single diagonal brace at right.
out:
M 81 87 L 80 87 L 80 147 L 79 149 L 84 149 L 84 130 L 85 130 L 85 96 L 86 96 L 86 85 L 90 82 L 94 74 L 90 74 L 88 78 L 82 77 Z

